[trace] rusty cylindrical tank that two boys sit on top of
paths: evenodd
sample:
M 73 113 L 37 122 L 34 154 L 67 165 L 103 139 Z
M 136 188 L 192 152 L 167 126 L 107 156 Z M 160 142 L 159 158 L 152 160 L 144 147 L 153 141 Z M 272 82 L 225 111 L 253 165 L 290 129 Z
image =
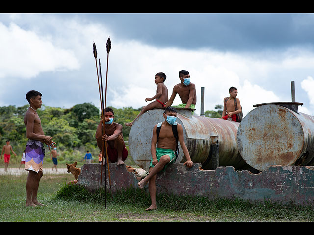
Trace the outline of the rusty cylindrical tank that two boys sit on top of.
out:
M 220 166 L 234 166 L 235 169 L 250 167 L 242 159 L 236 146 L 239 123 L 191 115 L 190 109 L 177 108 L 177 111 L 177 122 L 183 127 L 185 145 L 193 162 L 202 163 L 203 169 L 209 169 L 211 165 L 210 136 L 218 136 Z M 130 154 L 142 169 L 149 169 L 153 128 L 154 125 L 165 120 L 163 113 L 164 108 L 147 111 L 136 119 L 131 127 Z M 180 152 L 176 162 L 185 162 L 186 159 L 180 144 L 179 147 Z

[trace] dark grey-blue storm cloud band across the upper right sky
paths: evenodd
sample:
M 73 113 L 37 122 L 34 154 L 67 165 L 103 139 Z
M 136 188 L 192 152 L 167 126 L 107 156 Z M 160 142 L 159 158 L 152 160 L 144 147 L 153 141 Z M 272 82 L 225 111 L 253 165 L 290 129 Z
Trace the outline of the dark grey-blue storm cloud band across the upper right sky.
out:
M 313 46 L 308 14 L 91 14 L 121 39 L 157 47 L 252 51 Z

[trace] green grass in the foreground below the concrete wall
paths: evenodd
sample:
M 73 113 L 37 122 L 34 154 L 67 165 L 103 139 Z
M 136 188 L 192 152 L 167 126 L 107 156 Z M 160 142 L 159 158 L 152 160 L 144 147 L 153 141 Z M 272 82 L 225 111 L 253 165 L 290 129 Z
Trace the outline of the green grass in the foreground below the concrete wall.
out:
M 38 200 L 45 207 L 26 207 L 27 175 L 0 176 L 0 221 L 314 221 L 313 206 L 251 203 L 239 199 L 215 199 L 157 194 L 157 210 L 145 211 L 149 194 L 127 189 L 114 195 L 91 193 L 66 183 L 71 174 L 44 174 Z

